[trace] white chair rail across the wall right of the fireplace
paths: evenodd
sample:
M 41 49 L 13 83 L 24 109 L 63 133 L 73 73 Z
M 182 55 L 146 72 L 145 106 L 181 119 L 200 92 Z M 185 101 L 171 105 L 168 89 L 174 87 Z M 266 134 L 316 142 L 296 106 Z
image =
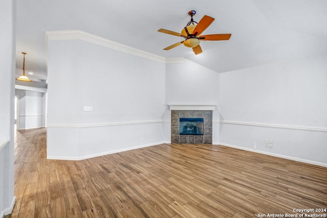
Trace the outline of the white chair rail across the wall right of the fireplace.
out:
M 284 125 L 275 125 L 275 124 L 256 124 L 256 123 L 236 122 L 236 121 L 228 121 L 228 120 L 220 120 L 219 123 L 232 124 L 232 125 L 243 125 L 243 126 L 271 127 L 271 128 L 280 128 L 280 129 L 327 132 L 327 129 L 318 128 L 318 127 L 300 127 L 300 126 L 286 126 L 286 125 L 284 126 Z

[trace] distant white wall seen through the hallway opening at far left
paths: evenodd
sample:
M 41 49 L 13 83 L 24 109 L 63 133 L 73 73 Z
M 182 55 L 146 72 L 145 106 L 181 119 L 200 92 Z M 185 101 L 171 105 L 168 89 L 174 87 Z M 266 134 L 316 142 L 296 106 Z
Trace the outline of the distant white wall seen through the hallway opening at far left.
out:
M 17 130 L 45 127 L 45 93 L 15 89 L 19 95 L 19 122 Z

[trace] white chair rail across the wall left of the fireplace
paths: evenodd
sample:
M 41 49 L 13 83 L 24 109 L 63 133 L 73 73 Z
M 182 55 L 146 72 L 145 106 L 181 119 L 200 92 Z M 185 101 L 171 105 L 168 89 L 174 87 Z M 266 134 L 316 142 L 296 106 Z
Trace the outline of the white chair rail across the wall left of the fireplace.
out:
M 48 128 L 88 128 L 88 127 L 105 127 L 105 126 L 123 126 L 123 125 L 137 125 L 137 124 L 155 124 L 164 123 L 164 120 L 143 120 L 134 122 L 120 122 L 120 123 L 103 123 L 103 124 L 47 124 Z

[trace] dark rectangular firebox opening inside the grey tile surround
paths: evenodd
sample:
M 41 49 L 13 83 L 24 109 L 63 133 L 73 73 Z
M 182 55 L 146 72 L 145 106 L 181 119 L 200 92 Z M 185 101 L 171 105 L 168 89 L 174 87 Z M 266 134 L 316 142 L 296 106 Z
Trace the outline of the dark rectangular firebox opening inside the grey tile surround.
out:
M 179 135 L 203 135 L 203 118 L 179 118 Z

